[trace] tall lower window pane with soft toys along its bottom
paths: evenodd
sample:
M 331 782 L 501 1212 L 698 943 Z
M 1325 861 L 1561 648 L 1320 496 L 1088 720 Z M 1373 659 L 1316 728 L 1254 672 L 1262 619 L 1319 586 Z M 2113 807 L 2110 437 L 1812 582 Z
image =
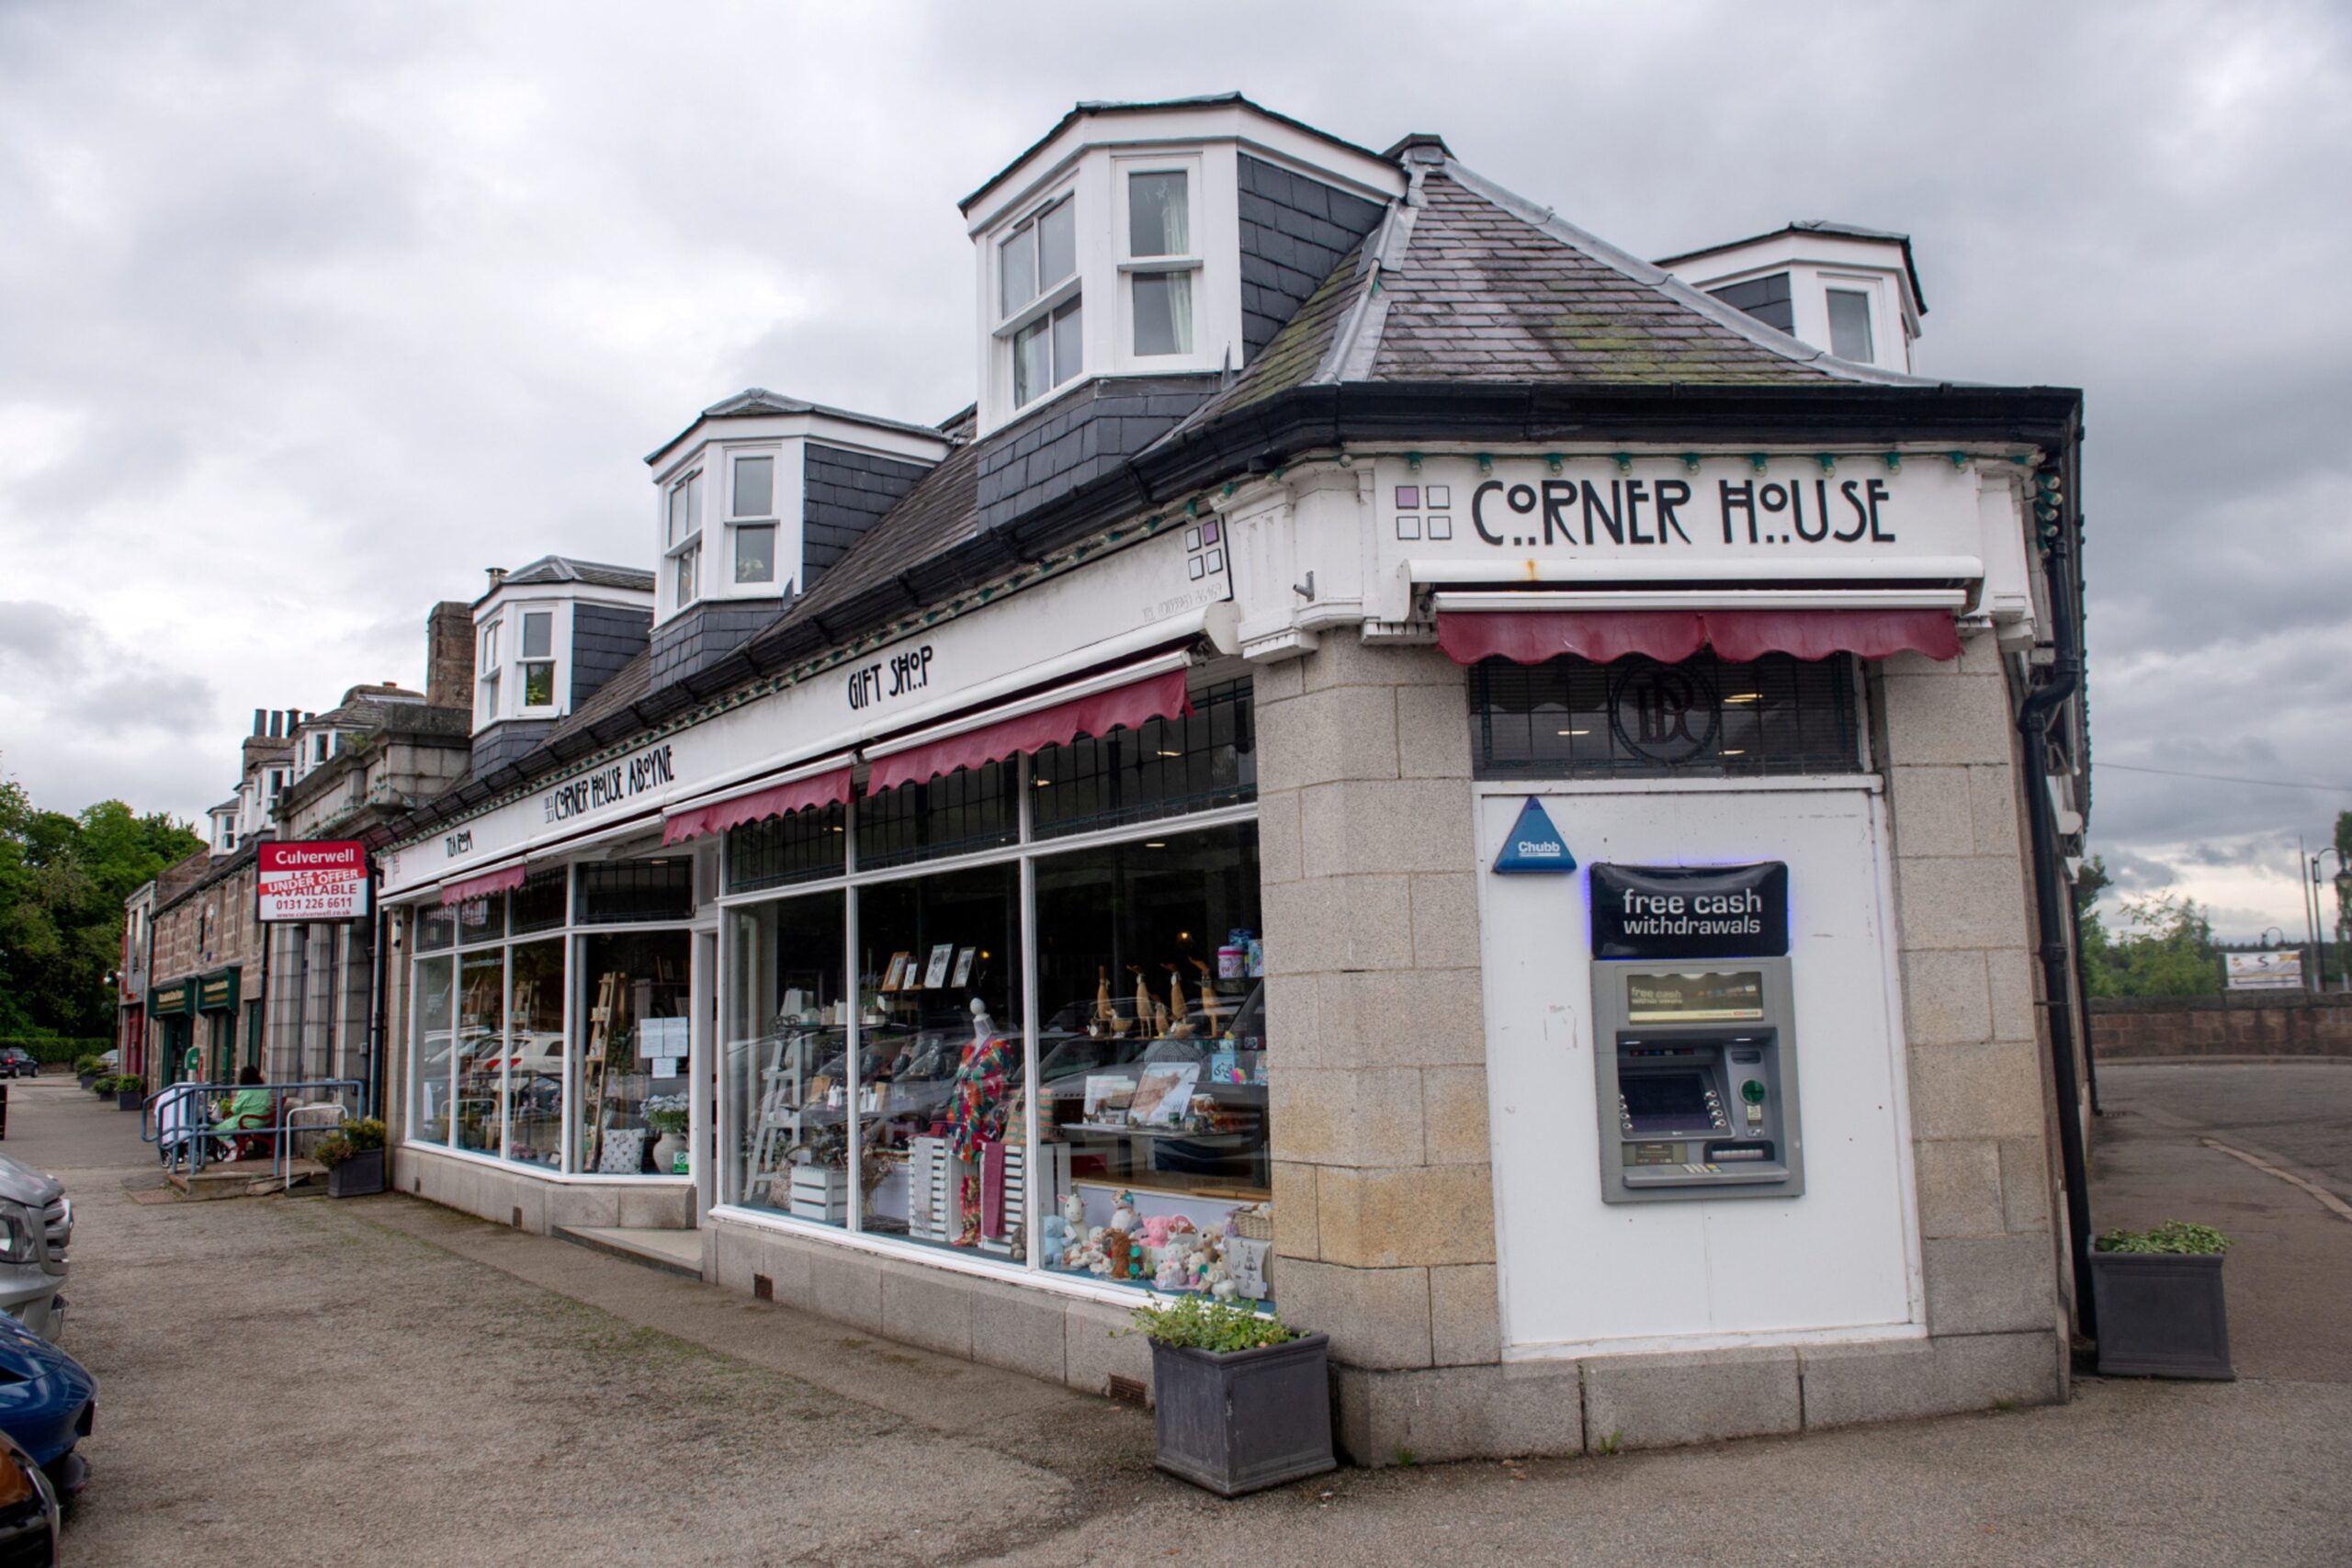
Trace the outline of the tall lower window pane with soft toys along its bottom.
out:
M 1035 929 L 1044 1265 L 1270 1300 L 1256 827 L 1040 858 Z

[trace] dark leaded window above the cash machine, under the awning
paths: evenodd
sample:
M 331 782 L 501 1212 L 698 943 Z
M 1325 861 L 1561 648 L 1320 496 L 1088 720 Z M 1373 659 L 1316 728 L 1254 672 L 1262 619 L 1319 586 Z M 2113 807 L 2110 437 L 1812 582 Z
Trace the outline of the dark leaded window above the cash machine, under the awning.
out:
M 1479 778 L 1766 778 L 1863 769 L 1856 665 L 1766 654 L 1470 670 Z

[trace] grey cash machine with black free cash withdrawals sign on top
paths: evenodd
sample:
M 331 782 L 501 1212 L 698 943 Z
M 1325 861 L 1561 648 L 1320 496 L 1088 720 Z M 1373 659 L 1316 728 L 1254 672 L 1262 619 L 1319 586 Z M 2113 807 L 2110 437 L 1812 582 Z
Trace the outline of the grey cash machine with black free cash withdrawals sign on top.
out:
M 1602 1201 L 1799 1197 L 1788 867 L 1595 865 L 1592 957 Z

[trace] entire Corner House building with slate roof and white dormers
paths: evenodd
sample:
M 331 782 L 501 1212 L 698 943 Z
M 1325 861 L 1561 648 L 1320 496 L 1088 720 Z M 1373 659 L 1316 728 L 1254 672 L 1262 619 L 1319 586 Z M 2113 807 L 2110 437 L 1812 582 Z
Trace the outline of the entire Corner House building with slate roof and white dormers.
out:
M 2060 1396 L 2079 395 L 1232 96 L 964 219 L 976 407 L 706 409 L 386 851 L 397 1185 L 1096 1392 L 1275 1302 L 1364 1462 Z

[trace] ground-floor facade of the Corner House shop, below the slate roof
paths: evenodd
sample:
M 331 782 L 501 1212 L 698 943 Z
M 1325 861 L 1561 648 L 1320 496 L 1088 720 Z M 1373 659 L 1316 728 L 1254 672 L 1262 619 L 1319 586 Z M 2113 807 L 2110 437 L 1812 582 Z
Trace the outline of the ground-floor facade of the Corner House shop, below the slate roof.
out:
M 1051 1218 L 1181 1213 L 1367 1462 L 2058 1396 L 2077 416 L 1244 374 L 386 856 L 395 1180 L 1094 1392 L 1145 1279 Z M 1581 867 L 1788 867 L 1802 1194 L 1606 1204 L 1590 875 L 1491 870 L 1529 799 Z

